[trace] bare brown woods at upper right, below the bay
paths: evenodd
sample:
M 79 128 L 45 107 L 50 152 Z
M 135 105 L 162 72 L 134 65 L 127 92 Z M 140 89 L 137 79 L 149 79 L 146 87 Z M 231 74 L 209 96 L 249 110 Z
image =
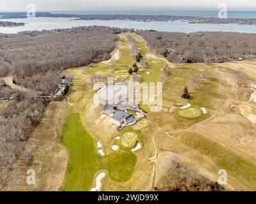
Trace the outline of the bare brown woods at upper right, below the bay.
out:
M 256 34 L 137 31 L 151 50 L 171 62 L 225 62 L 256 54 Z

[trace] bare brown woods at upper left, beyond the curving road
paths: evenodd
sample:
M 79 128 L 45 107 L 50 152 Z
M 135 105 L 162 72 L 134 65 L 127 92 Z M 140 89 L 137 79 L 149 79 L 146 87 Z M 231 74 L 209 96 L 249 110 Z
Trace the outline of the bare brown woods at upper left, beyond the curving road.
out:
M 48 94 L 63 69 L 109 59 L 116 40 L 103 26 L 0 34 L 0 75 L 11 71 L 17 84 Z

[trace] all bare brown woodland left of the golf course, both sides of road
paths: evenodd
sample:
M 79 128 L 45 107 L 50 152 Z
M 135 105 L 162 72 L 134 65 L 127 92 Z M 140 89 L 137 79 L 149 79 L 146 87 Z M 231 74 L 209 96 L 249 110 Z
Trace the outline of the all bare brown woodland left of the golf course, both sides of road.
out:
M 0 99 L 11 98 L 0 107 L 0 189 L 17 159 L 33 159 L 26 142 L 49 103 L 36 92 L 51 94 L 63 69 L 109 59 L 117 39 L 114 29 L 100 26 L 0 34 L 0 77 L 14 74 L 15 83 L 33 90 L 15 91 L 0 80 Z

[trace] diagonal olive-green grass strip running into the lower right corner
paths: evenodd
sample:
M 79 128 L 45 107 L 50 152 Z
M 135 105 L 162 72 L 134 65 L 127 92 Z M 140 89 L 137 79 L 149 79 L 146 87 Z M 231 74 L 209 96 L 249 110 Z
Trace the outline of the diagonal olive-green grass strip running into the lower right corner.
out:
M 239 157 L 227 147 L 196 133 L 185 133 L 180 140 L 188 147 L 199 151 L 200 154 L 211 157 L 219 169 L 227 170 L 227 173 L 244 182 L 250 189 L 256 189 L 255 164 Z

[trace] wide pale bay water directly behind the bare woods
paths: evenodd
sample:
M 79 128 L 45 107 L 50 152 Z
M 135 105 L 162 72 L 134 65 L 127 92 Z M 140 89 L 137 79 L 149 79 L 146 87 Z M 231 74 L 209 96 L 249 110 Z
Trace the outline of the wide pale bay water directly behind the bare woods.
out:
M 61 29 L 82 25 L 106 25 L 121 28 L 154 29 L 157 31 L 192 33 L 197 31 L 225 31 L 256 33 L 256 25 L 237 24 L 188 24 L 186 22 L 133 22 L 124 20 L 72 20 L 73 18 L 17 18 L 4 19 L 12 22 L 24 22 L 25 26 L 0 27 L 0 33 L 18 33 L 20 31 L 41 31 L 43 29 Z

